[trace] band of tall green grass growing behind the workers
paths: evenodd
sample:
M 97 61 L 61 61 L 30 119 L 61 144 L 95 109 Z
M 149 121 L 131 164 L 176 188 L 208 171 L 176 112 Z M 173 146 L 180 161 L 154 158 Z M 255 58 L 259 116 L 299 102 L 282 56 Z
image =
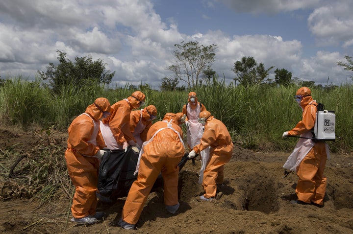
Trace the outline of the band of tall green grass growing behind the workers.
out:
M 147 105 L 158 110 L 157 120 L 164 114 L 181 112 L 188 93 L 198 94 L 199 101 L 211 114 L 222 120 L 232 138 L 244 147 L 265 150 L 292 149 L 297 139 L 282 139 L 282 133 L 292 129 L 302 118 L 302 109 L 294 100 L 296 85 L 271 87 L 257 85 L 234 87 L 224 79 L 214 77 L 202 86 L 184 92 L 158 92 L 148 87 Z M 338 150 L 353 150 L 353 87 L 342 85 L 333 89 L 312 88 L 312 96 L 336 114 L 334 144 Z M 68 85 L 59 94 L 53 94 L 40 80 L 28 82 L 22 77 L 8 79 L 0 87 L 0 117 L 2 122 L 21 125 L 38 124 L 43 128 L 55 126 L 66 130 L 72 119 L 83 113 L 97 97 L 106 97 L 110 104 L 131 95 L 135 90 L 125 87 Z

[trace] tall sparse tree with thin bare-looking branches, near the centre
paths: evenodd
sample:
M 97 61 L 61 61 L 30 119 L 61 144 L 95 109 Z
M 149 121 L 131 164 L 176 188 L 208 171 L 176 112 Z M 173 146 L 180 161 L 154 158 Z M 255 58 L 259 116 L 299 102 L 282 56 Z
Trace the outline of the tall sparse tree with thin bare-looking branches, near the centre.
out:
M 173 71 L 179 80 L 185 81 L 189 88 L 198 86 L 201 72 L 211 69 L 217 46 L 214 44 L 199 46 L 199 42 L 184 43 L 183 41 L 174 46 L 176 61 L 168 69 Z

